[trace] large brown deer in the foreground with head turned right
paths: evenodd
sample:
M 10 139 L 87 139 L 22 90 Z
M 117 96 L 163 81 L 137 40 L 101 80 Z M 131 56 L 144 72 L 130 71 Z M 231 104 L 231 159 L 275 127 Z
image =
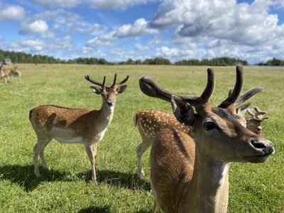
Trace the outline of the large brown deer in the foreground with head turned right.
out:
M 215 85 L 212 69 L 200 97 L 171 95 L 173 114 L 192 129 L 192 136 L 175 128 L 156 136 L 150 157 L 154 212 L 156 205 L 163 212 L 226 212 L 230 163 L 263 163 L 275 153 L 271 141 L 246 129 L 236 117 L 243 70 L 237 66 L 236 72 L 233 92 L 218 107 L 209 102 Z

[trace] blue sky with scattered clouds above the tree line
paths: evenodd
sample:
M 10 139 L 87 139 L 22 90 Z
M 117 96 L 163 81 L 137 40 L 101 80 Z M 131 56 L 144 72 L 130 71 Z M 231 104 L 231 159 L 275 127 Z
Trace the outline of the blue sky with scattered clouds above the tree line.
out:
M 4 0 L 0 48 L 111 62 L 284 60 L 283 0 Z

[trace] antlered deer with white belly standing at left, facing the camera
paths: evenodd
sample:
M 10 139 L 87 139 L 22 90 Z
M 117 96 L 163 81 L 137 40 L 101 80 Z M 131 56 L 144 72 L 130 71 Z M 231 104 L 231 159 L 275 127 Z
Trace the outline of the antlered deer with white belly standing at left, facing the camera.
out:
M 83 143 L 92 166 L 92 180 L 97 182 L 96 156 L 97 142 L 102 141 L 107 127 L 114 116 L 116 96 L 126 89 L 124 84 L 127 76 L 116 83 L 116 74 L 111 87 L 105 85 L 106 77 L 102 83 L 91 80 L 88 75 L 85 79 L 99 87 L 92 87 L 92 92 L 102 95 L 102 108 L 96 109 L 71 109 L 53 105 L 35 107 L 30 111 L 30 121 L 38 137 L 33 148 L 34 174 L 40 176 L 38 171 L 38 155 L 43 163 L 43 168 L 48 169 L 45 161 L 44 149 L 50 141 L 55 140 L 65 143 Z

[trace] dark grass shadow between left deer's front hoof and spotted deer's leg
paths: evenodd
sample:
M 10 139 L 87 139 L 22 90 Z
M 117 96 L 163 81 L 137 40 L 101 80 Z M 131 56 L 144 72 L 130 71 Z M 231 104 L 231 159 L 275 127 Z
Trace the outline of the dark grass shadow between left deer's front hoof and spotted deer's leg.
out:
M 92 180 L 91 170 L 79 173 L 77 177 L 89 182 Z M 107 183 L 111 186 L 124 187 L 130 190 L 151 190 L 150 183 L 145 180 L 139 180 L 136 174 L 121 173 L 119 171 L 97 170 L 97 182 L 99 184 Z

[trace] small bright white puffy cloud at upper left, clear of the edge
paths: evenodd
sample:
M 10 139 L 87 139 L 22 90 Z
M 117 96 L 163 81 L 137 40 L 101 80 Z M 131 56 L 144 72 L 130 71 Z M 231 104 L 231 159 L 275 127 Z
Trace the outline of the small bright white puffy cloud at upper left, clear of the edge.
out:
M 21 25 L 21 34 L 45 33 L 48 31 L 48 24 L 43 20 L 33 21 L 32 23 L 23 23 Z

